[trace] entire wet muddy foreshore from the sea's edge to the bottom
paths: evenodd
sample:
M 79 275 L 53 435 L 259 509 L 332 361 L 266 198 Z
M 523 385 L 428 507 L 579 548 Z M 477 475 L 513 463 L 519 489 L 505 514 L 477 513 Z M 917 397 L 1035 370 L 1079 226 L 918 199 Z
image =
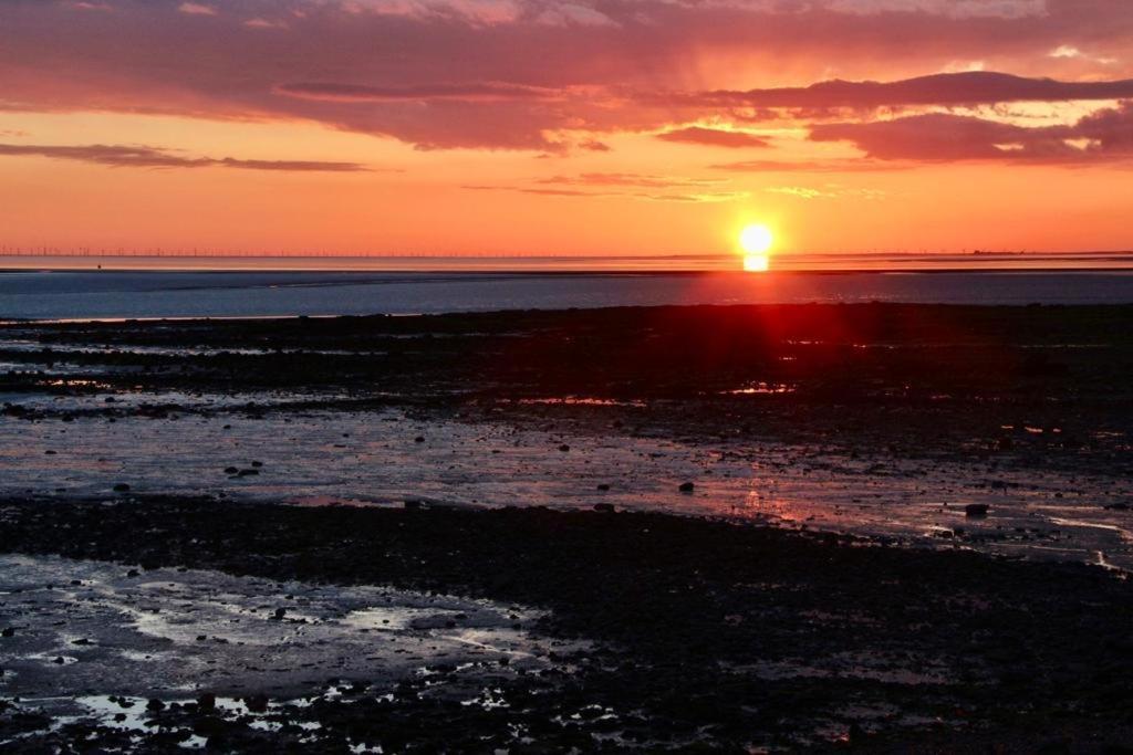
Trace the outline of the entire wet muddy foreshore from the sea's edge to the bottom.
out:
M 0 327 L 0 741 L 1128 741 L 1131 325 L 862 304 Z

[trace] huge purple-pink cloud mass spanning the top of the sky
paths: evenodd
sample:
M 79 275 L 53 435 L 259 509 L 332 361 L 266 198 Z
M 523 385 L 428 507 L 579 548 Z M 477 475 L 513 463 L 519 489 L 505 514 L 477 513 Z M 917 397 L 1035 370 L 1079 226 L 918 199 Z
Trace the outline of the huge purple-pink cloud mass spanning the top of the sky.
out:
M 1128 0 L 0 0 L 0 109 L 301 120 L 428 149 L 1133 97 Z M 988 71 L 909 78 L 955 61 Z

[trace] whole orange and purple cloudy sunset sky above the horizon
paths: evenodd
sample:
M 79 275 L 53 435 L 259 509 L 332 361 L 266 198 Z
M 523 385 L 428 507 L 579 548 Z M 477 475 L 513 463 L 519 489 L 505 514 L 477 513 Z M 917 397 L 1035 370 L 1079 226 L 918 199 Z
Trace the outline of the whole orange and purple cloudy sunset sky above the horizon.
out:
M 0 0 L 0 244 L 1133 247 L 1130 0 Z

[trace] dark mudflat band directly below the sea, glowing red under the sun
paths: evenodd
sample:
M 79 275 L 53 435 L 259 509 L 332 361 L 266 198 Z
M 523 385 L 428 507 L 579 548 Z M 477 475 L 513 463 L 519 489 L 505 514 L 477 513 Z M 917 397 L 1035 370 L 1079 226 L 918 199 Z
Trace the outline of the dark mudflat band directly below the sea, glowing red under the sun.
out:
M 1123 306 L 922 304 L 16 323 L 0 327 L 0 394 L 12 418 L 600 409 L 631 437 L 1128 472 L 1131 324 Z M 43 394 L 76 401 L 29 401 Z M 116 394 L 125 406 L 100 403 Z M 207 405 L 180 406 L 193 396 Z

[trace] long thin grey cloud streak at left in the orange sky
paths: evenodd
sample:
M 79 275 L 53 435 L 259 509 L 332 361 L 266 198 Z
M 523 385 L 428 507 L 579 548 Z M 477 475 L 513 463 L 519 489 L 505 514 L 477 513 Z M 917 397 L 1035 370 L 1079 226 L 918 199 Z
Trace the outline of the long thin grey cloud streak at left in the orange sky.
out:
M 17 145 L 0 144 L 0 155 L 73 160 L 110 168 L 238 168 L 254 171 L 349 173 L 370 169 L 358 163 L 306 160 L 238 160 L 236 157 L 185 157 L 154 147 L 118 145 Z

